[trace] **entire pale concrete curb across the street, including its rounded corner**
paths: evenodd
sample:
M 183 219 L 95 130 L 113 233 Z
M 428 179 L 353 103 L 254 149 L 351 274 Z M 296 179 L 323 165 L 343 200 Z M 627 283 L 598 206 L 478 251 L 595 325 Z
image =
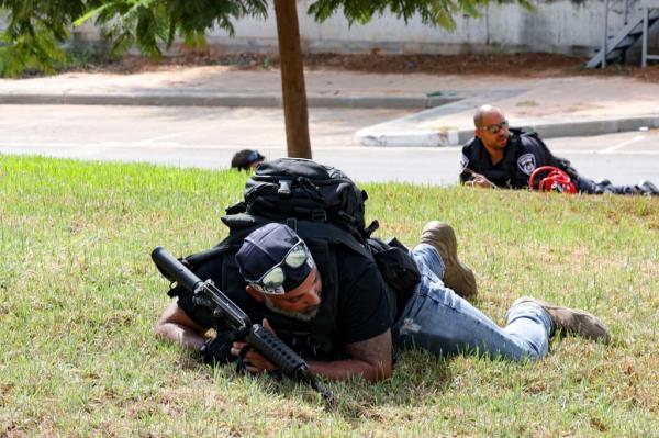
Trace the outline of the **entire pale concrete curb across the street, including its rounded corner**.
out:
M 488 99 L 506 98 L 523 90 L 492 90 Z M 391 147 L 437 147 L 458 146 L 473 136 L 473 128 L 447 128 L 428 131 L 416 128 L 420 122 L 462 111 L 470 105 L 477 94 L 474 91 L 447 91 L 442 97 L 420 96 L 319 96 L 308 97 L 311 108 L 389 108 L 389 109 L 429 109 L 418 114 L 396 121 L 359 130 L 355 137 L 364 146 Z M 478 92 L 479 101 L 482 91 Z M 491 96 L 490 96 L 491 94 Z M 221 93 L 213 90 L 187 90 L 152 92 L 9 92 L 0 93 L 0 104 L 71 104 L 71 105 L 145 105 L 145 106 L 246 106 L 281 108 L 281 94 Z M 641 126 L 659 127 L 659 115 L 636 115 L 629 117 L 607 117 L 599 120 L 559 121 L 528 125 L 544 138 L 571 137 L 582 135 L 613 134 L 636 131 Z

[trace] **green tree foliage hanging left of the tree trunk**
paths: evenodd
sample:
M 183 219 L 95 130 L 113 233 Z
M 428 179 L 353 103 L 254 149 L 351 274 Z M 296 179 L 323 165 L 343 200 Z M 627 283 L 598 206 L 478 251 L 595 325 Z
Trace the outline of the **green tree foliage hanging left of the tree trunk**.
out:
M 214 27 L 233 34 L 233 20 L 267 15 L 266 0 L 0 0 L 8 13 L 0 49 L 0 75 L 18 76 L 25 69 L 53 71 L 64 58 L 59 44 L 71 25 L 92 20 L 112 43 L 112 54 L 133 46 L 152 58 L 161 56 L 177 35 L 187 44 L 203 45 Z

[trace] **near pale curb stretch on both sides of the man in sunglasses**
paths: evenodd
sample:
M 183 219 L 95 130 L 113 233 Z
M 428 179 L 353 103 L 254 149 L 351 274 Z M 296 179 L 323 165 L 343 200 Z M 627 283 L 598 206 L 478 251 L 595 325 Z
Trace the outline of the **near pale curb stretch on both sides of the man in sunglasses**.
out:
M 582 120 L 526 125 L 543 138 L 577 137 L 636 131 L 643 126 L 659 127 L 659 115 L 640 115 L 619 119 Z M 377 125 L 357 131 L 355 137 L 364 146 L 437 147 L 460 146 L 473 137 L 473 128 L 445 130 L 440 132 Z

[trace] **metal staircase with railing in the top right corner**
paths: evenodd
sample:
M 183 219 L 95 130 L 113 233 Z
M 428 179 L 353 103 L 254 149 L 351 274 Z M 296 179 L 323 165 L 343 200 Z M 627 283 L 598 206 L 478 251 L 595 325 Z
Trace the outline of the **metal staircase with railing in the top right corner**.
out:
M 625 25 L 615 35 L 607 34 L 608 26 L 608 1 L 605 4 L 604 37 L 602 47 L 585 65 L 587 68 L 606 67 L 607 63 L 625 64 L 628 49 L 639 40 L 641 44 L 641 66 L 645 68 L 647 60 L 659 60 L 658 55 L 648 55 L 647 41 L 651 27 L 659 22 L 659 0 L 647 0 L 640 4 L 636 13 L 627 19 L 627 7 L 625 7 Z

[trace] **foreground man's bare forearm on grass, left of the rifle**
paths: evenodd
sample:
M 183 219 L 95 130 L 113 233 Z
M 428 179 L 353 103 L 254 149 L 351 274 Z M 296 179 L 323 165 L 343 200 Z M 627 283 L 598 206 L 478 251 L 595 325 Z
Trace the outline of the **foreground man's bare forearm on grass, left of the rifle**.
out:
M 204 334 L 208 329 L 190 319 L 177 302 L 172 301 L 156 323 L 154 332 L 166 340 L 199 350 L 206 340 Z

